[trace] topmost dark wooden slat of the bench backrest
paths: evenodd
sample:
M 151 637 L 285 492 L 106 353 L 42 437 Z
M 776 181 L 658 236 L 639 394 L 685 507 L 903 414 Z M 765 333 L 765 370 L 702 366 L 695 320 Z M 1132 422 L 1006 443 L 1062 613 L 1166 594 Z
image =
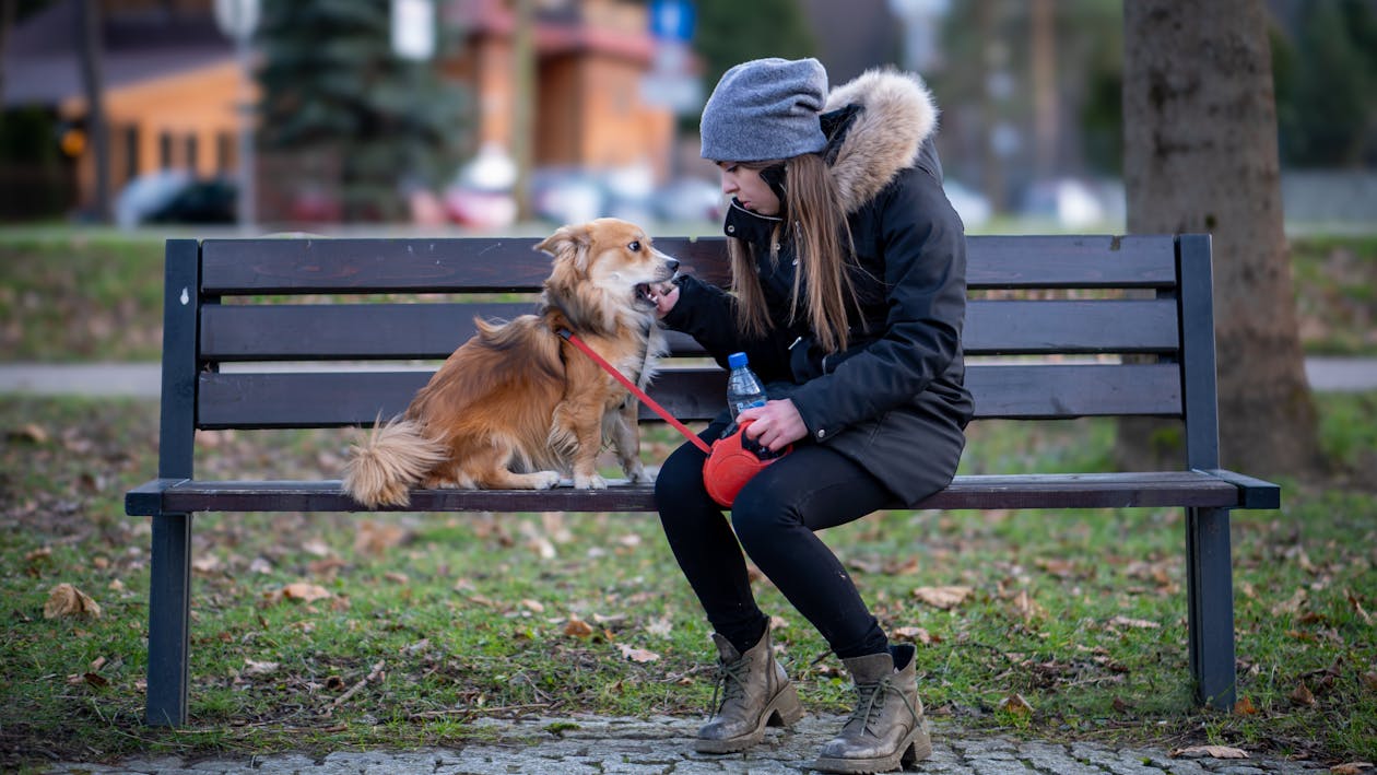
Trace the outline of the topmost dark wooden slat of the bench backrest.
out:
M 202 290 L 246 293 L 529 292 L 549 274 L 534 237 L 452 240 L 207 240 Z M 716 285 L 730 278 L 720 237 L 661 238 L 661 251 Z M 969 237 L 967 284 L 990 288 L 1172 288 L 1172 237 Z M 481 259 L 481 260 L 475 260 Z

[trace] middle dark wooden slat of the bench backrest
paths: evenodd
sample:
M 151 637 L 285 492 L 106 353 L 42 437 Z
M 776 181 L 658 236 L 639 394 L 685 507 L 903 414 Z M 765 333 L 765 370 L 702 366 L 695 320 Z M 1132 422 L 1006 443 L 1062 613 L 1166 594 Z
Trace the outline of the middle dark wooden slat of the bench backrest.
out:
M 201 311 L 207 361 L 439 359 L 476 330 L 474 318 L 512 319 L 533 303 L 211 304 Z M 672 355 L 702 355 L 666 332 Z M 1176 303 L 1164 300 L 975 300 L 968 355 L 1165 354 L 1179 344 Z

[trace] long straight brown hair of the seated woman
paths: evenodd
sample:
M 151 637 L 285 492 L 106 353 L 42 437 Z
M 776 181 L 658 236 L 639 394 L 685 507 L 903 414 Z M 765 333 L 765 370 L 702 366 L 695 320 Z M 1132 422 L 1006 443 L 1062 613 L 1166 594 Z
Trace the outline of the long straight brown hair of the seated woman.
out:
M 739 162 L 756 172 L 785 165 L 785 195 L 781 201 L 779 226 L 771 244 L 792 240 L 799 257 L 799 271 L 793 275 L 789 297 L 789 319 L 799 318 L 803 303 L 808 329 L 826 352 L 847 348 L 847 301 L 855 306 L 855 290 L 847 275 L 845 257 L 852 251 L 851 230 L 845 212 L 837 204 L 836 187 L 826 162 L 810 153 L 789 160 Z M 756 274 L 755 245 L 731 237 L 727 240 L 731 256 L 731 290 L 737 296 L 737 326 L 742 333 L 763 336 L 770 329 L 766 297 Z M 771 256 L 774 259 L 777 256 Z M 808 278 L 804 299 L 799 299 L 799 285 Z

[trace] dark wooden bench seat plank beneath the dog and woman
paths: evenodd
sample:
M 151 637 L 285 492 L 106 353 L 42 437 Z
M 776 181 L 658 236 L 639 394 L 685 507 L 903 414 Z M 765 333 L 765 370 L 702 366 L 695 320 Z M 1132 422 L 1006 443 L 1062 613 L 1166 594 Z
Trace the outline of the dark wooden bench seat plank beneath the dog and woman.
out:
M 136 500 L 135 500 L 136 494 Z M 1199 471 L 1140 474 L 969 475 L 918 508 L 1139 508 L 1239 505 L 1239 487 Z M 198 511 L 368 511 L 340 491 L 337 480 L 196 482 L 154 480 L 131 493 L 131 513 Z M 898 508 L 894 504 L 891 508 Z M 405 508 L 387 511 L 654 511 L 650 485 L 606 490 L 413 490 Z

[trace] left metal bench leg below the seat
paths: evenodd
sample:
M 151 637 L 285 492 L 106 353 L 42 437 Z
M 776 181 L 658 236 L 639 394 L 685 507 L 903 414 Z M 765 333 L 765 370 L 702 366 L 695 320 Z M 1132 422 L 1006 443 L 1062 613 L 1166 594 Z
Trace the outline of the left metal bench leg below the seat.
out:
M 191 618 L 191 515 L 153 518 L 147 724 L 186 723 Z

